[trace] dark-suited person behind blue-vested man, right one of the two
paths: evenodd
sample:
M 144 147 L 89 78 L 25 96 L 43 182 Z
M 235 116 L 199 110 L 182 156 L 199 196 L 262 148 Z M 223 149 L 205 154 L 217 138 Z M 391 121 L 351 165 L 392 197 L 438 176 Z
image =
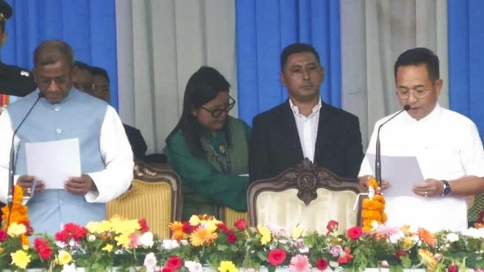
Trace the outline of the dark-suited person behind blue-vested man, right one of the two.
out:
M 92 85 L 94 87 L 92 95 L 109 103 L 111 90 L 109 88 L 109 76 L 106 70 L 100 67 L 89 66 L 86 71 L 89 73 L 90 78 L 92 78 Z M 146 146 L 143 135 L 141 135 L 141 131 L 124 123 L 123 127 L 125 128 L 134 158 L 143 160 L 148 147 Z

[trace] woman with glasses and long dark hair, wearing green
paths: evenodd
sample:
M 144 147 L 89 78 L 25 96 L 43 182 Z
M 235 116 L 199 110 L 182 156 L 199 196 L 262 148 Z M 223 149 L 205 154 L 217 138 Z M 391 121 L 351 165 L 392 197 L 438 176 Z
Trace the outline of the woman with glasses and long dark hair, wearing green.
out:
M 247 218 L 251 130 L 229 116 L 235 104 L 229 88 L 217 70 L 201 67 L 188 80 L 181 118 L 166 139 L 168 162 L 182 180 L 182 220 L 215 215 L 220 205 L 241 212 L 231 218 Z

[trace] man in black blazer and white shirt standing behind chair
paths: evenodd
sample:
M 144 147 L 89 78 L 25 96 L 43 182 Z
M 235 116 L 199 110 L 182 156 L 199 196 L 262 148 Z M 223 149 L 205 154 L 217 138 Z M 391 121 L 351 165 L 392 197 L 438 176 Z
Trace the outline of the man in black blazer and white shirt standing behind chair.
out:
M 280 59 L 289 99 L 253 120 L 250 179 L 274 177 L 305 157 L 338 176 L 356 178 L 363 158 L 358 118 L 321 100 L 324 68 L 318 53 L 308 44 L 292 44 Z

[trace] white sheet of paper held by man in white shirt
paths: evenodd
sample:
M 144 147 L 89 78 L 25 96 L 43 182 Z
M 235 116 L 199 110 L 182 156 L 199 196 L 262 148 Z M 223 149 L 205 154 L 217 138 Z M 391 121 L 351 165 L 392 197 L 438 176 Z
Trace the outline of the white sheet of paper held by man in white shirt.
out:
M 375 154 L 366 154 L 375 174 Z M 383 191 L 385 197 L 415 197 L 413 184 L 424 181 L 416 157 L 382 156 L 382 179 L 390 186 Z

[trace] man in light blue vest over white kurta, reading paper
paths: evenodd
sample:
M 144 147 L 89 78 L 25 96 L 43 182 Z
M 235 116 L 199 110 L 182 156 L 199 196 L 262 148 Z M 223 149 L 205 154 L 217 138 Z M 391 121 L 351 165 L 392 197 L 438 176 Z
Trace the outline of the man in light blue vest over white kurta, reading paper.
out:
M 29 219 L 36 232 L 52 234 L 62 223 L 105 219 L 105 202 L 123 194 L 132 180 L 133 153 L 119 116 L 105 101 L 73 87 L 73 67 L 74 53 L 68 44 L 43 42 L 34 51 L 38 89 L 0 115 L 0 201 L 5 202 L 13 131 L 39 95 L 42 97 L 14 138 L 18 157 L 15 181 L 24 192 L 36 184 L 28 202 Z M 38 181 L 27 175 L 25 143 L 73 138 L 79 141 L 81 176 L 66 180 L 64 189 L 45 189 L 49 180 Z

